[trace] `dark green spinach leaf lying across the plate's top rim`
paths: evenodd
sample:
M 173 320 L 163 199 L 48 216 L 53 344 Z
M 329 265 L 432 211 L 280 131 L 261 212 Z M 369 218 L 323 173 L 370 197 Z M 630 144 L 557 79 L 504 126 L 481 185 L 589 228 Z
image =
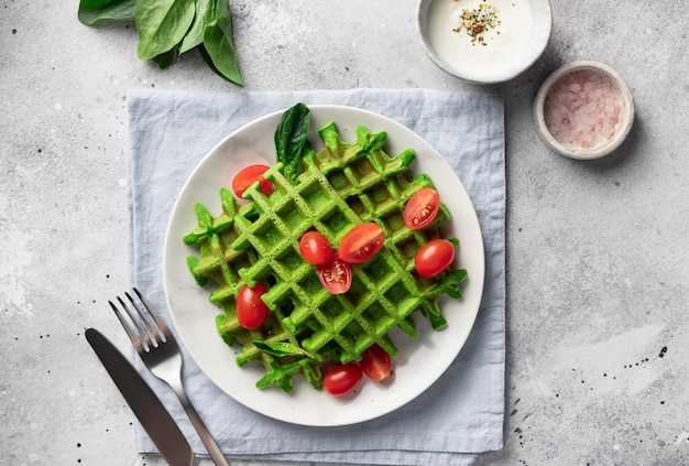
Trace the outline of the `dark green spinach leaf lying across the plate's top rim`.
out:
M 285 167 L 285 176 L 296 184 L 302 154 L 308 142 L 310 110 L 299 102 L 286 110 L 275 130 L 275 158 Z

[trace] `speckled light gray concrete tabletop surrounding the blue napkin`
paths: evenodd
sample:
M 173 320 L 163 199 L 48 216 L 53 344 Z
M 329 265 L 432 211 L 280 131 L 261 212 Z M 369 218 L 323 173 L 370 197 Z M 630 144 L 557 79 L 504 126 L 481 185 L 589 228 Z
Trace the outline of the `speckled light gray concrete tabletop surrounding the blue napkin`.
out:
M 106 300 L 129 284 L 125 93 L 143 87 L 503 95 L 510 398 L 505 446 L 484 463 L 689 464 L 683 1 L 554 0 L 543 58 L 491 87 L 426 58 L 414 1 L 232 1 L 244 88 L 195 54 L 140 62 L 132 26 L 84 26 L 77 6 L 0 1 L 1 464 L 135 459 L 131 414 L 84 329 L 127 345 Z M 601 161 L 549 152 L 532 120 L 538 85 L 583 58 L 615 67 L 636 99 L 631 138 Z

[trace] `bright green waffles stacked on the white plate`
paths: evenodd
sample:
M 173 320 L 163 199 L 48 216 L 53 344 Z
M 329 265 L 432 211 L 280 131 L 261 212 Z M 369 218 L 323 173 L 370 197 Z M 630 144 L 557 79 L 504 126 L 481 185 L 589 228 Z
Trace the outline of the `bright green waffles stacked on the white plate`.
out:
M 285 112 L 283 123 L 287 118 Z M 307 126 L 292 127 L 286 139 L 305 138 Z M 415 337 L 416 311 L 434 329 L 444 328 L 438 300 L 442 294 L 461 299 L 467 272 L 446 270 L 433 279 L 415 272 L 416 252 L 440 236 L 439 227 L 450 214 L 441 203 L 426 228 L 405 226 L 406 202 L 423 187 L 433 187 L 427 175 L 412 175 L 412 149 L 391 158 L 383 149 L 385 132 L 359 127 L 357 141 L 346 142 L 330 122 L 319 129 L 324 149 L 315 151 L 302 141 L 286 160 L 280 153 L 281 131 L 284 127 L 275 136 L 277 162 L 263 174 L 274 191 L 266 195 L 253 183 L 240 202 L 221 187 L 222 212 L 216 216 L 195 204 L 198 226 L 184 242 L 197 245 L 199 254 L 189 256 L 187 264 L 199 285 L 212 289 L 209 300 L 222 310 L 216 317 L 218 334 L 228 345 L 241 347 L 237 364 L 256 361 L 265 368 L 258 388 L 278 386 L 289 392 L 293 378 L 302 375 L 320 390 L 324 361 L 360 360 L 374 343 L 395 357 L 398 351 L 389 332 L 396 326 Z M 347 231 L 369 221 L 383 229 L 383 248 L 369 261 L 351 265 L 347 293 L 331 294 L 317 267 L 302 258 L 299 238 L 315 229 L 337 249 Z M 457 249 L 459 241 L 451 241 Z M 270 313 L 261 327 L 247 329 L 238 322 L 236 299 L 244 284 L 251 288 L 259 281 L 267 288 L 262 299 Z

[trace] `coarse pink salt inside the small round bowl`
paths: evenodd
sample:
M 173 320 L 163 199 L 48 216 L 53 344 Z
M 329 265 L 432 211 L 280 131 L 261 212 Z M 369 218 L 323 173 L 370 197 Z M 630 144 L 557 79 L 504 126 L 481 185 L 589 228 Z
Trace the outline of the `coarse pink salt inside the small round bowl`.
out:
M 622 94 L 608 76 L 576 71 L 550 88 L 544 116 L 548 131 L 560 143 L 591 149 L 614 136 L 621 106 Z

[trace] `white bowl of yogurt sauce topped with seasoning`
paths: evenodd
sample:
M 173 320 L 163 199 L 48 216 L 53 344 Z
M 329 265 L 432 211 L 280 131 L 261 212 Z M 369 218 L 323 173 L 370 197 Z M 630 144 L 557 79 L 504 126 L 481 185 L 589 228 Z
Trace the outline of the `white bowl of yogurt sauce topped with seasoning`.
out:
M 500 24 L 479 34 L 483 42 L 472 42 L 460 14 L 479 11 L 481 3 L 499 8 Z M 540 57 L 550 40 L 553 12 L 549 0 L 420 0 L 417 21 L 424 51 L 440 69 L 469 83 L 497 84 Z

